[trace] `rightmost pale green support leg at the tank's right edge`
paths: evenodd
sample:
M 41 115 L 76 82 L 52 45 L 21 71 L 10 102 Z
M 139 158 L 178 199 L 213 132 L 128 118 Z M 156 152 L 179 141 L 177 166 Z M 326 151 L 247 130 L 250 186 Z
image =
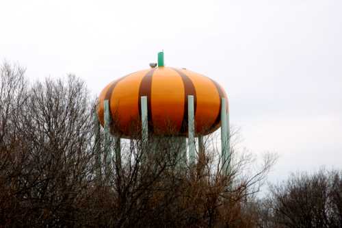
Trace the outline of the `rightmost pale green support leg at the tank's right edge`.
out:
M 229 166 L 229 140 L 228 140 L 228 118 L 227 118 L 227 109 L 226 109 L 226 99 L 221 98 L 221 165 L 222 172 L 224 175 L 228 175 L 228 166 Z

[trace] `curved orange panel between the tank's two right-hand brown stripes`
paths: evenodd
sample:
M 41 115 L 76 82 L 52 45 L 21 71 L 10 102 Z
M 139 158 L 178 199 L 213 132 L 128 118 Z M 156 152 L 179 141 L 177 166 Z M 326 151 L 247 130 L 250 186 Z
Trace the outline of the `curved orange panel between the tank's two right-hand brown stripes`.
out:
M 188 70 L 181 70 L 192 80 L 196 90 L 197 106 L 195 113 L 196 132 L 208 130 L 220 112 L 220 96 L 213 81 L 208 77 Z

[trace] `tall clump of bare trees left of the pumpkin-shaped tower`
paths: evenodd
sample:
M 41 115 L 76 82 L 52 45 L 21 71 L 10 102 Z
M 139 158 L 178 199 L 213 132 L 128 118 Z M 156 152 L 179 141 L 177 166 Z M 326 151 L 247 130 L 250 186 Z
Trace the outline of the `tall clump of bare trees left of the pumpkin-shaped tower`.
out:
M 23 69 L 1 68 L 3 225 L 70 225 L 92 180 L 92 116 L 85 84 L 46 79 L 28 86 Z M 3 108 L 5 107 L 5 108 Z

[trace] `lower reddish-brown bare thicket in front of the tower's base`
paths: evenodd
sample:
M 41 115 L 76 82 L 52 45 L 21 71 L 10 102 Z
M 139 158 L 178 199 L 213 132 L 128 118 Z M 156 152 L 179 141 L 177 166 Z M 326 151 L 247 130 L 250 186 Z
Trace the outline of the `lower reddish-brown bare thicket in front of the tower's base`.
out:
M 142 147 L 139 135 L 135 138 L 123 144 L 120 165 L 112 157 L 111 177 L 104 177 L 106 196 L 116 203 L 101 213 L 108 216 L 102 221 L 110 221 L 103 225 L 252 227 L 246 220 L 245 204 L 259 192 L 276 156 L 265 156 L 263 164 L 253 170 L 254 157 L 232 149 L 234 162 L 224 175 L 215 135 L 205 139 L 205 155 L 200 157 L 198 151 L 197 164 L 182 161 L 181 145 L 174 144 L 172 137 L 152 136 L 150 147 Z

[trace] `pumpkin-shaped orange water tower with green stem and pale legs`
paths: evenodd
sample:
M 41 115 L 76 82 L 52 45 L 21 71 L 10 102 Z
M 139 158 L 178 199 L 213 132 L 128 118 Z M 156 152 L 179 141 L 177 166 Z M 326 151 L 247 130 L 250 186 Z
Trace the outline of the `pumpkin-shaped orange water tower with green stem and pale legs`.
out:
M 164 66 L 163 52 L 158 53 L 158 64 L 150 67 L 112 81 L 99 96 L 98 121 L 116 137 L 117 147 L 120 138 L 176 136 L 185 144 L 187 137 L 189 160 L 195 162 L 195 137 L 201 148 L 202 136 L 221 127 L 222 157 L 226 160 L 229 116 L 224 89 L 204 75 Z M 132 123 L 141 126 L 142 134 L 137 134 Z

